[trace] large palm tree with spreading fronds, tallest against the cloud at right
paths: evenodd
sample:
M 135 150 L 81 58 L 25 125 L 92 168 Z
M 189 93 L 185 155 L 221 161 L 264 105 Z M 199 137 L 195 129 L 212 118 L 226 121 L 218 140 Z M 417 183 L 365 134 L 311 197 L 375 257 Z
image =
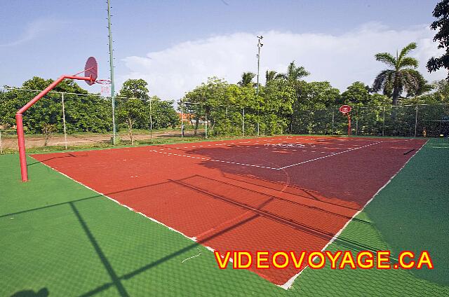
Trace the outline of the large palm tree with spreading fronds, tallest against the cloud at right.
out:
M 393 99 L 393 105 L 398 104 L 398 98 L 405 90 L 409 94 L 419 93 L 422 88 L 424 78 L 415 70 L 418 67 L 418 61 L 413 57 L 407 57 L 410 50 L 416 48 L 416 43 L 412 42 L 397 53 L 396 57 L 390 53 L 377 53 L 376 60 L 384 62 L 391 69 L 385 69 L 377 74 L 373 91 L 382 90 L 384 95 Z

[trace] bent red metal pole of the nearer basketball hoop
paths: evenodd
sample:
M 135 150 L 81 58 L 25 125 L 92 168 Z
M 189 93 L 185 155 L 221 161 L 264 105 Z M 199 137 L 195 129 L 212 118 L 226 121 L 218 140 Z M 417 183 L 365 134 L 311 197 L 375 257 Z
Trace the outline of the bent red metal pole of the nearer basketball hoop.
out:
M 20 158 L 20 174 L 22 174 L 22 181 L 28 181 L 28 170 L 27 170 L 27 156 L 25 155 L 25 137 L 23 134 L 23 120 L 22 114 L 27 111 L 34 103 L 38 102 L 43 96 L 45 96 L 48 92 L 50 92 L 53 88 L 55 88 L 58 83 L 64 81 L 65 79 L 79 79 L 81 81 L 95 81 L 92 76 L 69 76 L 63 75 L 58 78 L 56 81 L 53 81 L 51 85 L 40 92 L 36 97 L 34 97 L 30 102 L 25 104 L 21 109 L 15 113 L 15 123 L 17 125 L 17 138 L 19 144 L 19 158 Z

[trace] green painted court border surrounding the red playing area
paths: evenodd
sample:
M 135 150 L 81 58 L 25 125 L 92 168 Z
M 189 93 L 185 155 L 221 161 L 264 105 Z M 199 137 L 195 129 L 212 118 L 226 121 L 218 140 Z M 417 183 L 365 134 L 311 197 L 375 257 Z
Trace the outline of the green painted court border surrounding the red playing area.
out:
M 327 248 L 428 250 L 434 270 L 306 268 L 288 290 L 220 270 L 201 245 L 28 163 L 22 183 L 18 155 L 0 156 L 0 296 L 449 296 L 447 139 L 430 139 Z

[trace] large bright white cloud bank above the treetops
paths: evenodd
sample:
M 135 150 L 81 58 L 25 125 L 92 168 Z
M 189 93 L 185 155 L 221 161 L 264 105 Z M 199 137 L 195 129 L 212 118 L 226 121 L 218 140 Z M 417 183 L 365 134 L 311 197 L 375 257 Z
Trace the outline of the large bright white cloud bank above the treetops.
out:
M 149 83 L 151 94 L 163 99 L 180 99 L 209 76 L 236 83 L 243 71 L 257 71 L 258 34 L 264 36 L 260 55 L 262 83 L 267 69 L 283 72 L 295 60 L 311 72 L 307 81 L 330 81 L 340 90 L 354 81 L 371 84 L 384 69 L 382 63 L 375 61 L 375 53 L 395 53 L 412 41 L 418 47 L 410 55 L 420 61 L 419 70 L 429 81 L 447 75 L 443 70 L 429 74 L 425 68 L 429 57 L 441 55 L 432 41 L 435 32 L 427 25 L 394 30 L 368 23 L 338 36 L 269 31 L 183 42 L 145 57 L 126 57 L 123 61 L 128 73 L 119 76 L 119 82 L 143 78 Z

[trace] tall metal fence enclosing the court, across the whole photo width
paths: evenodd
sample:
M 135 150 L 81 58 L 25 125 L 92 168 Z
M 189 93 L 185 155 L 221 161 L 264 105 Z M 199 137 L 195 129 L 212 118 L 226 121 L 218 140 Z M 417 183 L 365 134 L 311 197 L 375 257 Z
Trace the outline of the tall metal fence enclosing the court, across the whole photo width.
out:
M 15 111 L 39 91 L 14 92 L 21 92 L 21 101 L 13 102 L 12 97 L 2 97 L 2 100 L 10 100 L 11 104 L 8 101 L 0 105 L 2 109 L 8 109 L 0 110 L 0 153 L 18 150 Z M 116 107 L 131 99 L 117 97 Z M 143 100 L 139 105 L 142 114 L 138 120 L 133 120 L 132 133 L 128 129 L 126 116 L 120 116 L 120 109 L 116 109 L 116 144 L 130 144 L 131 137 L 135 143 L 148 144 L 161 138 L 177 141 L 215 135 L 341 135 L 347 134 L 348 128 L 347 117 L 338 109 L 295 111 L 293 115 L 288 115 L 281 112 L 263 113 L 239 106 L 196 106 L 192 109 L 188 102 L 164 104 L 166 109 L 163 109 L 163 104 Z M 111 146 L 114 136 L 111 106 L 109 97 L 51 92 L 24 114 L 25 146 L 28 151 Z M 178 113 L 175 120 L 173 114 L 171 119 L 168 118 L 167 108 L 172 113 Z M 356 106 L 351 111 L 351 121 L 351 133 L 354 135 L 448 137 L 449 104 Z

